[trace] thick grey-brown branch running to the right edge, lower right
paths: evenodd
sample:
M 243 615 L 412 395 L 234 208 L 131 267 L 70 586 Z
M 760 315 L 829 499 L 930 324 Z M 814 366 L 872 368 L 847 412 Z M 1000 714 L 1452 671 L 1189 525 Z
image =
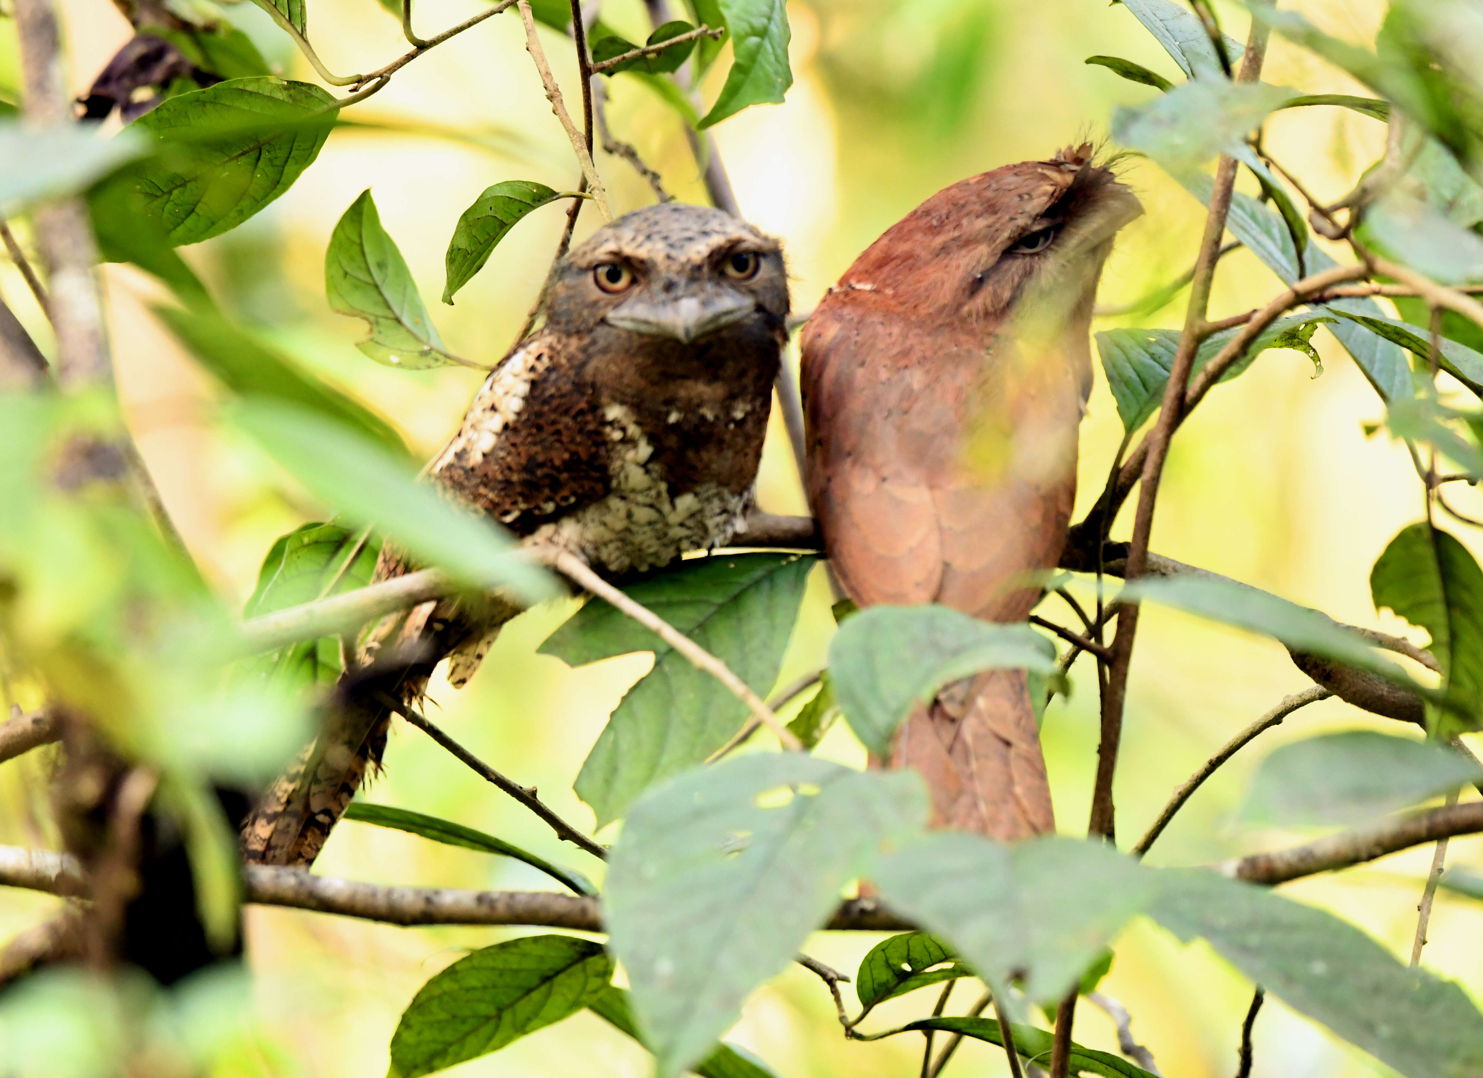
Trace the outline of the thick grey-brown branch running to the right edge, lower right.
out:
M 1361 864 L 1425 842 L 1483 830 L 1483 801 L 1443 805 L 1345 830 L 1307 845 L 1252 854 L 1223 862 L 1216 869 L 1249 884 L 1286 884 L 1289 879 Z

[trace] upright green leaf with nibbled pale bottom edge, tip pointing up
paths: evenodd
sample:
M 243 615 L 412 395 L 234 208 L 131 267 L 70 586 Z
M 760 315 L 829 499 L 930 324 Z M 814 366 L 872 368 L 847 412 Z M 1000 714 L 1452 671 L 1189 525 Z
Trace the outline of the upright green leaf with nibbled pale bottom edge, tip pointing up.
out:
M 356 347 L 378 363 L 423 371 L 463 362 L 443 347 L 406 259 L 381 227 L 369 187 L 329 237 L 325 297 L 331 310 L 365 319 L 371 334 Z

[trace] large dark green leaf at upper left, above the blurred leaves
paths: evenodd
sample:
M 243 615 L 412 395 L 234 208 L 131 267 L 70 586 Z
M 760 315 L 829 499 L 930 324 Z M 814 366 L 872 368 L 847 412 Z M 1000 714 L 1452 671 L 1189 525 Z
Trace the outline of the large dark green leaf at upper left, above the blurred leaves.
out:
M 171 243 L 221 236 L 314 163 L 335 123 L 334 101 L 273 77 L 181 93 L 131 125 L 154 135 L 157 151 L 129 175 Z

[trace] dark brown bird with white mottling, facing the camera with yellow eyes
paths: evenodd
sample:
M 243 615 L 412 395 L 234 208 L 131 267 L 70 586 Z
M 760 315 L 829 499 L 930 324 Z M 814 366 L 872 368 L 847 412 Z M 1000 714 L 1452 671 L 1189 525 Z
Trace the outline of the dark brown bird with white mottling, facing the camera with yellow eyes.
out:
M 610 288 L 605 267 L 621 270 Z M 786 317 L 776 240 L 701 206 L 629 214 L 556 268 L 544 326 L 485 381 L 433 482 L 605 575 L 725 546 L 752 507 Z M 389 547 L 377 578 L 409 568 Z M 381 759 L 387 698 L 420 697 L 445 657 L 466 681 L 513 614 L 445 599 L 377 626 L 325 733 L 249 820 L 248 859 L 313 862 Z

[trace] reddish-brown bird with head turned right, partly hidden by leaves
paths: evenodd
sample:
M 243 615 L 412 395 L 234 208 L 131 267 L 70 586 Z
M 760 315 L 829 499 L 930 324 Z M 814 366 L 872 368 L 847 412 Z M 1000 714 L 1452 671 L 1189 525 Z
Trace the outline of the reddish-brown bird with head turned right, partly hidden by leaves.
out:
M 1090 147 L 939 191 L 887 230 L 802 337 L 808 498 L 860 605 L 1020 621 L 1075 500 L 1089 325 L 1117 230 L 1140 212 Z M 1054 827 L 1020 672 L 943 690 L 897 735 L 939 826 Z

